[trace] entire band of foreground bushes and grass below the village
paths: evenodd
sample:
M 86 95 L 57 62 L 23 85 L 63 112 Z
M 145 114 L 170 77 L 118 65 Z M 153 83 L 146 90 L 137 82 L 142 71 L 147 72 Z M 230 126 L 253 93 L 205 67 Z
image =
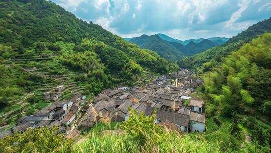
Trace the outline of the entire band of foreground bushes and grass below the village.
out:
M 57 128 L 29 129 L 0 140 L 1 152 L 268 152 L 258 141 L 243 142 L 240 124 L 221 116 L 208 118 L 206 132 L 184 133 L 154 123 L 156 114 L 137 115 L 127 122 L 97 123 L 80 140 L 64 138 Z M 117 129 L 122 129 L 117 130 Z M 237 130 L 236 130 L 237 129 Z M 239 136 L 239 137 L 237 137 Z M 241 147 L 241 143 L 244 145 Z

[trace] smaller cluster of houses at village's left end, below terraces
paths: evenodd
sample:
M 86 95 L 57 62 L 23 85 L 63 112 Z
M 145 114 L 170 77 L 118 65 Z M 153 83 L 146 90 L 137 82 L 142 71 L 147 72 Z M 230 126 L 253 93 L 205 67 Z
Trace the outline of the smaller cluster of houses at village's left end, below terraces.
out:
M 68 125 L 76 119 L 84 98 L 81 94 L 76 94 L 70 100 L 54 102 L 31 116 L 21 117 L 17 120 L 18 125 L 0 133 L 0 139 L 15 132 L 23 132 L 28 128 L 60 125 L 61 131 L 63 125 Z

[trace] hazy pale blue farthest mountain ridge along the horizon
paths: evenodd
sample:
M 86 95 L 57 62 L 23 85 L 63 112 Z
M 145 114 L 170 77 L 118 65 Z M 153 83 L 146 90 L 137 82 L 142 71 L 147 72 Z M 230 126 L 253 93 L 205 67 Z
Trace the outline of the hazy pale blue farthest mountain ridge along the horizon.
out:
M 161 37 L 164 40 L 170 41 L 170 42 L 178 42 L 181 43 L 182 45 L 187 45 L 189 44 L 191 41 L 195 42 L 195 43 L 200 43 L 202 40 L 205 40 L 204 38 L 199 38 L 199 39 L 188 39 L 188 40 L 178 40 L 178 39 L 174 39 L 171 38 L 165 34 L 157 34 L 159 37 Z M 211 40 L 212 42 L 218 43 L 218 44 L 223 44 L 226 41 L 229 40 L 229 38 L 225 38 L 225 37 L 213 37 L 213 38 L 207 38 L 208 40 Z

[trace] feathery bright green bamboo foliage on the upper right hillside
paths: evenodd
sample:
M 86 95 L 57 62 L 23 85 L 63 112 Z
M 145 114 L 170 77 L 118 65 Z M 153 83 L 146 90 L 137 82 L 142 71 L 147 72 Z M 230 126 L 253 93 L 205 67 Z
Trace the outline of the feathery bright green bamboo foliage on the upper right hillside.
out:
M 270 44 L 271 34 L 263 34 L 223 58 L 220 66 L 205 74 L 201 90 L 214 101 L 210 105 L 218 106 L 225 115 L 247 104 L 254 104 L 257 112 L 262 112 L 264 102 L 271 100 Z M 209 112 L 212 106 L 206 108 Z

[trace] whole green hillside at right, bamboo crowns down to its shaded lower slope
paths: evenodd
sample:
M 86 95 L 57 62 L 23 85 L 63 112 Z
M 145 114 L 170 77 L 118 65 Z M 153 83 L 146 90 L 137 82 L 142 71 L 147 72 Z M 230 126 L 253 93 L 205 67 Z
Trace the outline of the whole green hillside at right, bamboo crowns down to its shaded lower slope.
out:
M 205 109 L 208 117 L 217 114 L 234 117 L 236 125 L 246 129 L 252 141 L 264 147 L 270 147 L 271 142 L 270 45 L 271 33 L 244 44 L 207 72 L 201 87 L 208 102 Z

